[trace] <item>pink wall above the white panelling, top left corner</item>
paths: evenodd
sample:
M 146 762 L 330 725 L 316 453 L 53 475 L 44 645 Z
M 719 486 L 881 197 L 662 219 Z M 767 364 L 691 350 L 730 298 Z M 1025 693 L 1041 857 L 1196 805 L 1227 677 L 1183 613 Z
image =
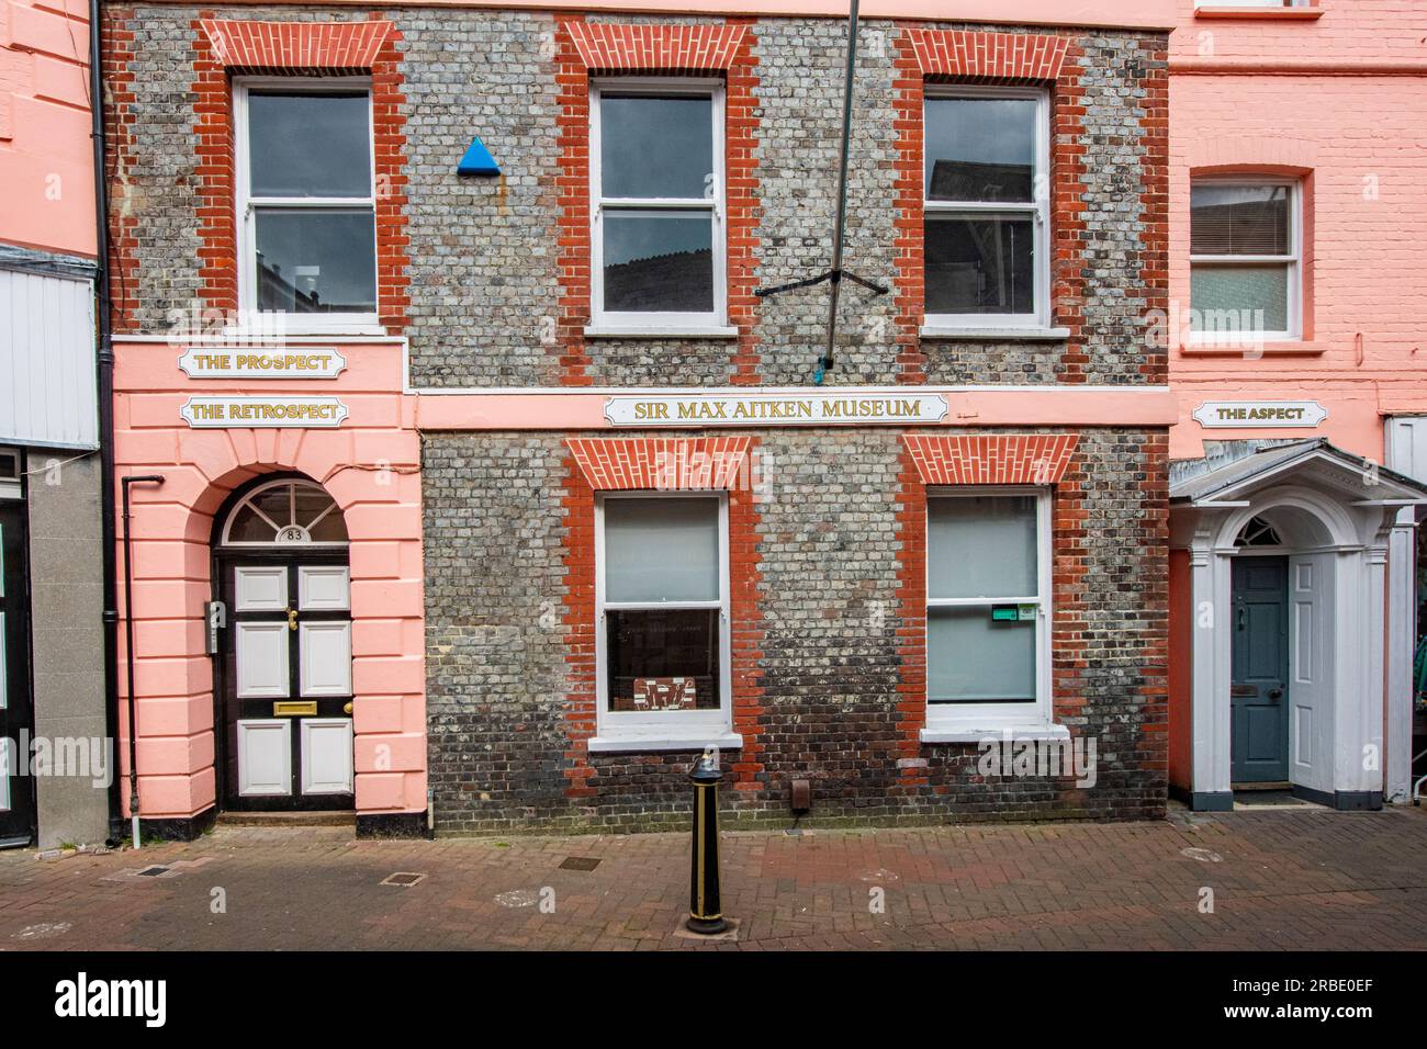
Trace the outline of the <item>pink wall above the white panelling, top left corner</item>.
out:
M 84 0 L 0 0 L 0 241 L 94 254 Z

